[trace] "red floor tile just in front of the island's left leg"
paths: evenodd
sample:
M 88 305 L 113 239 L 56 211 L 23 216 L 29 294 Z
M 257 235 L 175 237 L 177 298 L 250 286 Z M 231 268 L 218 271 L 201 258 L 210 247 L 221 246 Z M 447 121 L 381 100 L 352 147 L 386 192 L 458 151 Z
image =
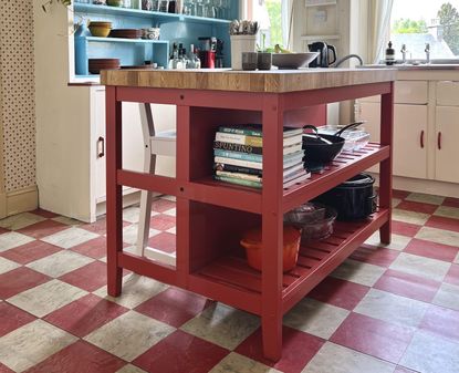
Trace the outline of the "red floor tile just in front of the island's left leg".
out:
M 87 294 L 44 318 L 45 321 L 83 338 L 128 310 L 114 302 Z

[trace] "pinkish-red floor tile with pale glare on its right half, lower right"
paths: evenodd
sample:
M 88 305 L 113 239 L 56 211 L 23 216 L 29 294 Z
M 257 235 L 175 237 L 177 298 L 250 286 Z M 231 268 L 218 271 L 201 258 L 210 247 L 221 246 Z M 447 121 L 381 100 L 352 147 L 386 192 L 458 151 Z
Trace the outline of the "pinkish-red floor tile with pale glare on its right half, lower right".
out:
M 351 313 L 330 341 L 398 363 L 411 341 L 413 330 L 358 313 Z

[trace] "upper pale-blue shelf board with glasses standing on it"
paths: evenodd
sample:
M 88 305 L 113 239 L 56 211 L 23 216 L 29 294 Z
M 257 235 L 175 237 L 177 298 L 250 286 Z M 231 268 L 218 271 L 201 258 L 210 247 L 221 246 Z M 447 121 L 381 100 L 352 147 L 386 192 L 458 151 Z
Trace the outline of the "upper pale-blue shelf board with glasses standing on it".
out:
M 122 8 L 122 7 L 85 4 L 85 3 L 79 3 L 79 2 L 74 3 L 73 10 L 79 13 L 88 13 L 88 14 L 113 14 L 113 15 L 146 18 L 146 19 L 152 19 L 153 21 L 163 22 L 163 23 L 188 21 L 188 22 L 199 22 L 199 23 L 206 22 L 206 23 L 227 25 L 231 22 L 229 20 L 221 20 L 221 19 L 215 19 L 215 18 L 156 12 L 156 11 L 140 10 L 140 9 Z

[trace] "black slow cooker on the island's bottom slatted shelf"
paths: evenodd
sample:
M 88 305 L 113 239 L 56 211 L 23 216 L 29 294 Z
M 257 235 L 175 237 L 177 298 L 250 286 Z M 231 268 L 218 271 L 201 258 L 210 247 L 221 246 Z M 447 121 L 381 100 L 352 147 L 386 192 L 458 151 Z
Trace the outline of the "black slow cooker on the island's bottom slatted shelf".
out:
M 334 207 L 338 220 L 364 219 L 376 211 L 374 183 L 372 175 L 362 173 L 320 195 L 316 200 Z

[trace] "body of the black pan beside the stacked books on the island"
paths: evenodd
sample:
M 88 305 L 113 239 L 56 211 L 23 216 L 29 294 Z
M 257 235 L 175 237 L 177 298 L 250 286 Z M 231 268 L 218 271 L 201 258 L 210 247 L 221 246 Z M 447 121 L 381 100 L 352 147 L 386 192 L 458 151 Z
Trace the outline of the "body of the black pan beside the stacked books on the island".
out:
M 328 163 L 342 151 L 345 141 L 343 137 L 335 135 L 319 136 L 317 128 L 313 125 L 306 125 L 304 128 L 315 132 L 315 135 L 303 134 L 303 149 L 307 162 Z

